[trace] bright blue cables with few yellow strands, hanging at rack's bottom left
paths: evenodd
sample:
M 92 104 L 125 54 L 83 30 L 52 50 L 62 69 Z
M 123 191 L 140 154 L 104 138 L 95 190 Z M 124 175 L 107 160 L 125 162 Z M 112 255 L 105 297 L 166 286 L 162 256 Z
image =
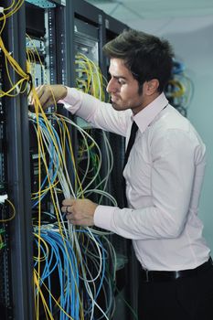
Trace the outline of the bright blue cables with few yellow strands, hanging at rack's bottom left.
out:
M 35 236 L 38 246 L 37 233 Z M 53 319 L 53 315 L 59 311 L 60 319 L 79 319 L 79 272 L 73 248 L 65 240 L 65 251 L 64 241 L 57 230 L 41 230 L 40 237 L 43 257 L 40 257 L 40 261 L 35 258 L 35 295 L 37 297 L 39 294 L 42 299 L 43 313 L 39 312 L 37 318 L 46 315 L 46 319 Z M 44 267 L 38 277 L 37 263 L 42 261 Z

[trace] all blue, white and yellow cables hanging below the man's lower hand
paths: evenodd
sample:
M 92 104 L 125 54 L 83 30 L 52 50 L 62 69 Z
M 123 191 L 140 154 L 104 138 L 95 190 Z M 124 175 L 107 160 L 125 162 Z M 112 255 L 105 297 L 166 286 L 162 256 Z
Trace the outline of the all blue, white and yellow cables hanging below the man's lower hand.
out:
M 35 235 L 37 237 L 37 233 Z M 59 314 L 59 319 L 94 319 L 95 309 L 98 309 L 100 316 L 97 319 L 111 319 L 114 275 L 110 275 L 109 263 L 115 263 L 110 260 L 110 255 L 115 258 L 115 254 L 109 240 L 94 234 L 91 229 L 78 229 L 73 241 L 64 241 L 56 226 L 42 228 L 40 237 L 43 266 L 39 284 L 35 257 L 36 295 L 41 296 L 43 303 L 39 316 L 52 319 L 53 315 Z M 104 247 L 102 242 L 105 242 Z M 101 291 L 105 312 L 97 302 Z

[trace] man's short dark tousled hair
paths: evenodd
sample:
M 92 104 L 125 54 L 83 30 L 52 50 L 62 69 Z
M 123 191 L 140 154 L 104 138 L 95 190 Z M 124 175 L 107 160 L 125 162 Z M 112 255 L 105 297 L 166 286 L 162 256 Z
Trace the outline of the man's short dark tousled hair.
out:
M 125 66 L 138 80 L 139 89 L 144 81 L 157 79 L 162 92 L 171 76 L 174 52 L 165 39 L 133 29 L 124 30 L 103 47 L 109 58 L 123 59 Z

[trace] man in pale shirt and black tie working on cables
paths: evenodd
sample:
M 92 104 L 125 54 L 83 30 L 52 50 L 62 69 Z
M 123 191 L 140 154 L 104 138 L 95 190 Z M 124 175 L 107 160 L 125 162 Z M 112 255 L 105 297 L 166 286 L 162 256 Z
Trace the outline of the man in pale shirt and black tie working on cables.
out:
M 74 225 L 95 225 L 133 240 L 141 263 L 140 320 L 213 319 L 213 267 L 197 218 L 205 145 L 165 98 L 172 48 L 158 37 L 125 30 L 103 50 L 110 58 L 112 104 L 62 85 L 40 87 L 37 94 L 47 107 L 53 92 L 69 112 L 127 142 L 134 123 L 123 170 L 128 206 L 65 199 L 62 211 Z

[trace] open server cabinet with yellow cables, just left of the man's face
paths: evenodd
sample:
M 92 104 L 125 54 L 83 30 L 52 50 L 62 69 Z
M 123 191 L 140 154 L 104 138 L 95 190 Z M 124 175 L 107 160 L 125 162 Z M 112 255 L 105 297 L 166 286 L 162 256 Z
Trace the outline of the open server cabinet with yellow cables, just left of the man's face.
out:
M 69 71 L 70 81 L 68 84 L 71 87 L 79 88 L 81 91 L 91 93 L 104 101 L 104 88 L 98 88 L 97 86 L 94 88 L 94 82 L 92 83 L 92 80 L 91 82 L 88 80 L 88 73 L 91 72 L 91 74 L 96 77 L 99 70 L 101 70 L 100 77 L 97 77 L 97 80 L 102 81 L 100 80 L 102 70 L 104 69 L 104 59 L 102 58 L 101 52 L 104 33 L 102 12 L 85 1 L 72 0 L 67 5 L 67 8 L 67 29 L 69 30 L 69 32 L 67 32 L 67 44 L 69 45 L 71 66 Z M 88 69 L 88 73 L 85 69 Z M 102 136 L 102 132 L 100 130 L 93 130 L 88 123 L 82 121 L 79 117 L 75 118 L 75 122 L 80 125 L 81 128 L 91 133 L 101 148 L 102 158 L 105 158 L 105 138 Z M 81 147 L 80 134 L 76 135 L 75 141 L 75 150 L 79 150 Z M 80 170 L 84 170 L 86 164 L 87 155 L 82 155 L 82 161 L 79 162 L 79 165 L 82 166 Z M 106 162 L 102 162 L 98 179 L 104 177 L 107 170 Z M 87 179 L 86 183 L 88 183 Z M 99 182 L 96 180 L 95 184 L 98 185 Z M 95 194 L 90 195 L 90 198 L 94 201 L 99 201 L 99 197 Z M 107 199 L 103 198 L 102 201 L 104 201 L 103 203 L 107 203 Z

